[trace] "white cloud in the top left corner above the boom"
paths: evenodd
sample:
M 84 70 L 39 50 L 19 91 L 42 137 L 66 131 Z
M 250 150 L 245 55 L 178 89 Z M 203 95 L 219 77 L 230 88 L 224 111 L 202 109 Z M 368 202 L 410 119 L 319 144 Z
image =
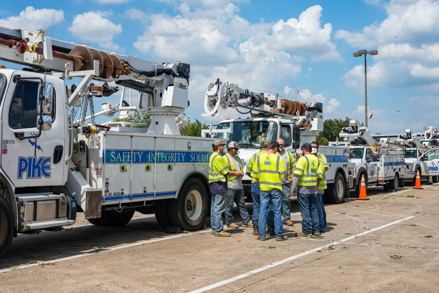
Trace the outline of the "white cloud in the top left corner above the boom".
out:
M 28 6 L 18 16 L 9 16 L 0 19 L 0 25 L 11 29 L 51 29 L 54 25 L 64 21 L 64 11 L 56 9 L 35 9 Z

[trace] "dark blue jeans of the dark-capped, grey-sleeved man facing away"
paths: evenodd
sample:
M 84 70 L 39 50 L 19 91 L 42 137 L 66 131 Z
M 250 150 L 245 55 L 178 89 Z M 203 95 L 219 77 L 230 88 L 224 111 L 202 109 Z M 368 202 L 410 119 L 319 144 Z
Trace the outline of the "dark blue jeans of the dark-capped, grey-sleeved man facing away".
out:
M 317 212 L 317 193 L 300 193 L 297 197 L 299 200 L 300 214 L 302 216 L 302 232 L 311 234 L 310 222 L 313 223 L 312 232 L 320 232 L 319 213 Z M 309 221 L 311 218 L 311 221 Z

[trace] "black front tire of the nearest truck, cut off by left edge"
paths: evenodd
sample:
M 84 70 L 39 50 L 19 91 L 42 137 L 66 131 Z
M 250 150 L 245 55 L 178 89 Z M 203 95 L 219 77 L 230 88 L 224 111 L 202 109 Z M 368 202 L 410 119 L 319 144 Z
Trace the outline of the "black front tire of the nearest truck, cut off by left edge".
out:
M 14 236 L 14 215 L 3 196 L 0 196 L 0 259 L 7 253 Z

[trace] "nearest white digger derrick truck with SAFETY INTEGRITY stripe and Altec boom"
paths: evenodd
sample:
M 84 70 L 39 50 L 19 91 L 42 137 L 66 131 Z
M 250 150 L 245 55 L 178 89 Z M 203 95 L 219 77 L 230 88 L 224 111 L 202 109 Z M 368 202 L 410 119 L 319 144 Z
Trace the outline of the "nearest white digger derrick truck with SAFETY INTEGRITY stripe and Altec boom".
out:
M 155 213 L 162 228 L 203 227 L 214 139 L 184 137 L 177 127 L 188 107 L 188 64 L 76 46 L 44 29 L 4 27 L 0 58 L 29 67 L 0 68 L 0 258 L 18 233 L 59 230 L 75 223 L 79 211 L 95 225 L 125 225 L 139 211 Z M 65 80 L 74 77 L 82 80 L 67 88 Z M 106 83 L 88 85 L 92 80 Z M 118 90 L 110 82 L 122 86 L 120 104 L 104 103 L 95 114 L 93 98 Z M 137 105 L 125 101 L 126 89 L 140 93 Z M 152 123 L 148 129 L 94 123 L 97 115 L 119 111 L 121 118 L 148 112 Z

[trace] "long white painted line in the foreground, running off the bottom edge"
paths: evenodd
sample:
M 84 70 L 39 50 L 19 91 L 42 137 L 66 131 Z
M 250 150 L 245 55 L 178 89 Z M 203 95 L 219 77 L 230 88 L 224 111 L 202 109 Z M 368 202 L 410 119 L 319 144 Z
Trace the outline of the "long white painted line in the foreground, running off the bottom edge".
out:
M 285 259 L 283 259 L 283 260 L 276 261 L 276 262 L 274 262 L 274 263 L 272 263 L 272 264 L 267 264 L 267 265 L 265 265 L 265 266 L 263 266 L 263 267 L 261 267 L 261 268 L 256 268 L 256 269 L 254 269 L 254 270 L 252 270 L 252 271 L 248 271 L 248 272 L 243 273 L 243 274 L 241 274 L 241 275 L 234 276 L 234 277 L 232 277 L 232 278 L 230 278 L 230 279 L 226 279 L 226 280 L 223 280 L 223 281 L 220 281 L 220 282 L 216 282 L 215 284 L 212 284 L 212 285 L 209 285 L 209 286 L 202 287 L 202 288 L 200 288 L 200 289 L 197 289 L 197 290 L 191 291 L 191 292 L 189 292 L 189 293 L 202 293 L 202 292 L 208 291 L 208 290 L 210 290 L 210 289 L 214 289 L 214 288 L 217 288 L 217 287 L 219 287 L 219 286 L 226 285 L 226 284 L 231 283 L 231 282 L 234 282 L 234 281 L 236 281 L 236 280 L 239 280 L 239 279 L 242 279 L 242 278 L 248 277 L 249 275 L 253 275 L 253 274 L 255 274 L 255 273 L 259 273 L 260 271 L 264 271 L 264 270 L 266 270 L 266 269 L 276 267 L 276 266 L 278 266 L 279 264 L 284 264 L 284 263 L 286 263 L 286 262 L 288 262 L 288 261 L 291 261 L 291 260 L 294 260 L 294 259 L 296 259 L 296 258 L 299 258 L 299 257 L 305 256 L 305 255 L 310 254 L 310 253 L 313 253 L 313 252 L 315 252 L 315 251 L 317 251 L 317 250 L 322 250 L 322 249 L 324 249 L 324 248 L 326 248 L 326 247 L 328 247 L 328 246 L 330 246 L 330 245 L 335 245 L 335 244 L 339 244 L 339 243 L 342 243 L 342 242 L 348 241 L 348 240 L 353 239 L 353 238 L 355 238 L 355 237 L 362 236 L 362 235 L 364 235 L 364 234 L 367 234 L 367 233 L 371 233 L 371 232 L 377 231 L 377 230 L 379 230 L 379 229 L 382 229 L 382 228 L 385 228 L 385 227 L 391 226 L 391 225 L 393 225 L 393 224 L 397 224 L 397 223 L 400 223 L 400 222 L 402 222 L 402 221 L 406 221 L 406 220 L 411 219 L 411 218 L 413 218 L 413 217 L 414 217 L 414 216 L 410 216 L 410 217 L 407 217 L 407 218 L 404 218 L 404 219 L 401 219 L 401 220 L 398 220 L 398 221 L 394 221 L 394 222 L 389 223 L 389 224 L 385 224 L 385 225 L 379 226 L 379 227 L 377 227 L 377 228 L 373 228 L 373 229 L 368 230 L 368 231 L 365 231 L 365 232 L 363 232 L 363 233 L 359 233 L 359 234 L 353 235 L 353 236 L 351 236 L 351 237 L 348 237 L 348 238 L 342 239 L 342 240 L 340 240 L 340 241 L 336 241 L 336 242 L 328 243 L 328 244 L 326 244 L 326 245 L 324 245 L 324 246 L 320 246 L 320 247 L 314 248 L 314 249 L 312 249 L 312 250 L 308 250 L 308 251 L 305 251 L 305 252 L 302 252 L 302 253 L 296 254 L 296 255 L 294 255 L 294 256 L 292 256 L 292 257 L 287 257 L 287 258 L 285 258 Z

